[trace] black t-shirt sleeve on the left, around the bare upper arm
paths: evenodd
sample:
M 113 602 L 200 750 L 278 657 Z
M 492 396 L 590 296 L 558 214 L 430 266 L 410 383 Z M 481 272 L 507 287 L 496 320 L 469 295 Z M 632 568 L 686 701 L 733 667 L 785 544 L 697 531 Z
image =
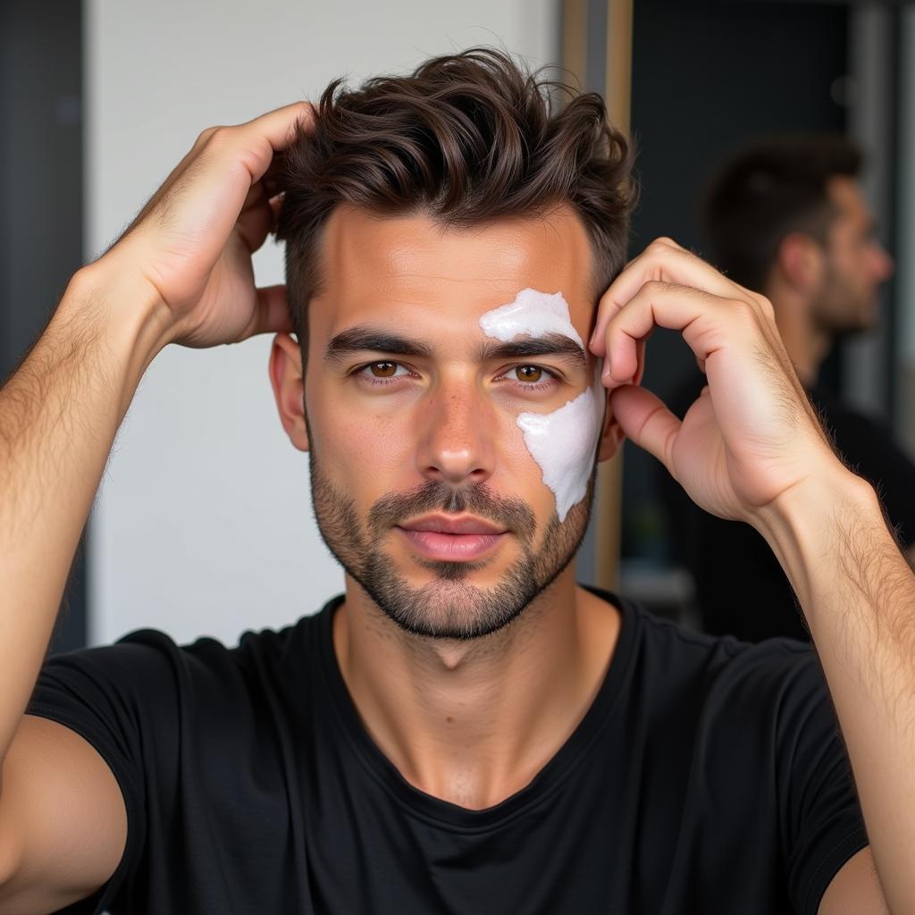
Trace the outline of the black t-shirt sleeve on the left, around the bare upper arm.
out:
M 144 738 L 148 744 L 150 719 L 167 715 L 171 705 L 175 686 L 167 658 L 174 651 L 177 646 L 165 634 L 143 630 L 115 645 L 51 657 L 38 676 L 27 715 L 59 722 L 87 740 L 112 770 L 127 811 L 124 856 L 113 876 L 88 899 L 61 910 L 66 915 L 108 910 L 144 855 L 150 763 Z

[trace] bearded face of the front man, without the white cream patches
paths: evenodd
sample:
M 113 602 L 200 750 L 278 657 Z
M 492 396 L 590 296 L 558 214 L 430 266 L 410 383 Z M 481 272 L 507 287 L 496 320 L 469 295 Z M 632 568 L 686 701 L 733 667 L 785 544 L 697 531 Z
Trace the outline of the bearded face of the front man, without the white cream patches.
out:
M 587 527 L 597 431 L 587 493 L 557 513 L 555 481 L 518 422 L 553 422 L 583 394 L 602 411 L 593 357 L 571 340 L 587 341 L 594 310 L 586 231 L 571 210 L 442 230 L 340 208 L 321 256 L 305 402 L 322 536 L 405 630 L 499 630 L 565 569 Z M 480 318 L 525 289 L 544 302 L 561 292 L 574 330 L 490 336 Z M 544 447 L 561 471 L 571 444 Z

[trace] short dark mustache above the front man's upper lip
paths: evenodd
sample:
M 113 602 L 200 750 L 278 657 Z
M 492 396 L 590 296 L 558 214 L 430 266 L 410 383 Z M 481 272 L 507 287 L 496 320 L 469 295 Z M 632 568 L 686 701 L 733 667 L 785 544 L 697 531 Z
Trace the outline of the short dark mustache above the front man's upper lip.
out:
M 406 492 L 392 492 L 375 502 L 369 511 L 372 533 L 380 534 L 429 511 L 459 514 L 468 511 L 479 518 L 499 524 L 529 542 L 536 528 L 531 507 L 521 499 L 497 495 L 485 483 L 460 487 L 430 479 Z

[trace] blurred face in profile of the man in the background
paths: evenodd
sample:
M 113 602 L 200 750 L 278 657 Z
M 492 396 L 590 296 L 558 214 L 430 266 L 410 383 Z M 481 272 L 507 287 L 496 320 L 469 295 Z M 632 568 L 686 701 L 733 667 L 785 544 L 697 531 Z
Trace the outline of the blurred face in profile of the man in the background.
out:
M 874 236 L 874 217 L 856 181 L 833 178 L 829 198 L 837 215 L 829 227 L 813 319 L 830 336 L 839 336 L 873 324 L 877 287 L 892 274 L 893 262 Z

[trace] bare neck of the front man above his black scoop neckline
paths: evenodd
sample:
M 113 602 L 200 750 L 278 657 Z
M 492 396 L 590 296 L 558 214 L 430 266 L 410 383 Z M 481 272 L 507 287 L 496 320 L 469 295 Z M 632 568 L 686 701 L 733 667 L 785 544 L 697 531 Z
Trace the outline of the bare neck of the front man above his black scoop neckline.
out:
M 431 640 L 399 629 L 347 578 L 334 648 L 372 739 L 414 787 L 479 810 L 527 785 L 571 736 L 607 672 L 619 613 L 570 565 L 511 625 Z

